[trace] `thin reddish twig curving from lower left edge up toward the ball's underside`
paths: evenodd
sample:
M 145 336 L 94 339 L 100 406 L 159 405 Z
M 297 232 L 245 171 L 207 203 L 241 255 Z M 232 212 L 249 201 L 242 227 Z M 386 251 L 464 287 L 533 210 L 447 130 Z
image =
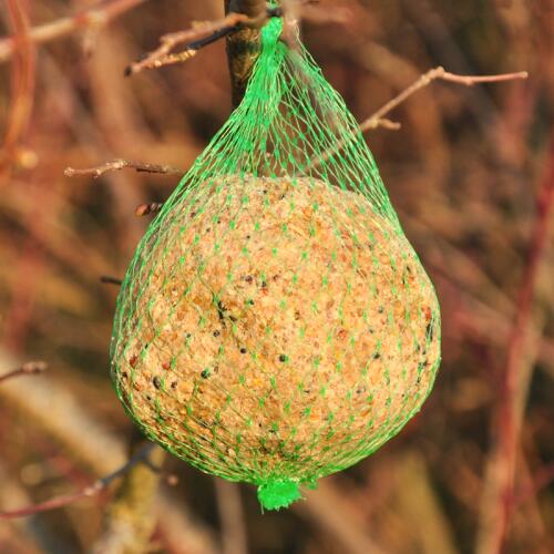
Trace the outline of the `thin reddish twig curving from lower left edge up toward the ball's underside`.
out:
M 109 475 L 102 479 L 99 479 L 92 485 L 85 486 L 81 491 L 71 494 L 64 494 L 55 499 L 51 499 L 39 504 L 32 504 L 30 506 L 22 507 L 19 510 L 0 512 L 0 520 L 11 520 L 14 517 L 24 517 L 28 515 L 38 514 L 41 512 L 49 512 L 51 510 L 57 510 L 59 507 L 66 506 L 82 499 L 96 496 L 102 491 L 107 489 L 107 486 L 113 481 L 125 475 L 137 463 L 143 462 L 154 448 L 155 448 L 154 444 L 146 444 L 140 452 L 137 452 L 133 458 L 131 458 L 129 462 L 122 465 L 119 470 L 114 471 L 113 473 L 110 473 Z

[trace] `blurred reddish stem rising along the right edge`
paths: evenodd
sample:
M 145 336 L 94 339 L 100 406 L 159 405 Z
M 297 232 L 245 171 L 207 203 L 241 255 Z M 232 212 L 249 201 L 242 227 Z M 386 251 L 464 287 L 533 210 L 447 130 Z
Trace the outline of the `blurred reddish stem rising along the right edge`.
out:
M 520 432 L 523 419 L 521 406 L 521 373 L 526 363 L 530 338 L 533 335 L 533 305 L 541 267 L 548 247 L 551 218 L 554 212 L 554 134 L 550 156 L 536 201 L 536 220 L 532 232 L 529 263 L 517 300 L 517 315 L 507 346 L 502 378 L 502 397 L 497 408 L 497 441 L 491 460 L 495 464 L 491 474 L 493 497 L 486 513 L 489 522 L 480 544 L 480 552 L 499 553 L 507 540 L 514 507 L 514 480 Z

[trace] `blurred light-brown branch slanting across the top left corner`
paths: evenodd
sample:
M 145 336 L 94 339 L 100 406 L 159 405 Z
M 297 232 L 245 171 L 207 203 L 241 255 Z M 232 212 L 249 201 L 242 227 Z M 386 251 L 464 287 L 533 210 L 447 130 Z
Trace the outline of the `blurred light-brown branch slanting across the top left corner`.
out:
M 66 37 L 79 30 L 89 28 L 99 28 L 113 21 L 124 12 L 136 8 L 147 0 L 114 0 L 112 2 L 100 2 L 98 6 L 88 10 L 80 11 L 74 16 L 38 25 L 29 30 L 29 40 L 35 44 Z M 9 60 L 16 50 L 21 47 L 17 37 L 6 37 L 0 39 L 0 63 Z

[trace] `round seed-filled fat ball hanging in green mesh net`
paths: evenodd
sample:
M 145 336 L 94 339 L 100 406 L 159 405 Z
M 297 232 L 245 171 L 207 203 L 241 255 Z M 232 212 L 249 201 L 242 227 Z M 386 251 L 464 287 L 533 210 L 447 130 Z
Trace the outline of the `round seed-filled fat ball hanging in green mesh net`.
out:
M 433 286 L 359 126 L 281 30 L 138 246 L 111 351 L 150 439 L 270 510 L 397 434 L 440 362 Z

